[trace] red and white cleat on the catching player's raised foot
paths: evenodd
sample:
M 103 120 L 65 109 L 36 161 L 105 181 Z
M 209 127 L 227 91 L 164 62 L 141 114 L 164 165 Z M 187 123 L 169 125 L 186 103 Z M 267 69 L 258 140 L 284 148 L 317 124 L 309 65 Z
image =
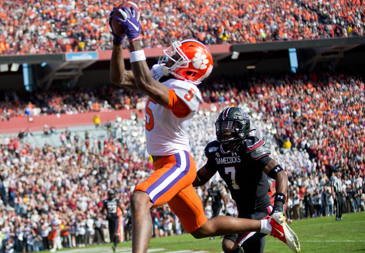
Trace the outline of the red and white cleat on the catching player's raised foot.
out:
M 300 252 L 298 236 L 288 226 L 283 212 L 274 213 L 269 218 L 269 223 L 272 226 L 270 235 L 286 243 L 293 252 Z

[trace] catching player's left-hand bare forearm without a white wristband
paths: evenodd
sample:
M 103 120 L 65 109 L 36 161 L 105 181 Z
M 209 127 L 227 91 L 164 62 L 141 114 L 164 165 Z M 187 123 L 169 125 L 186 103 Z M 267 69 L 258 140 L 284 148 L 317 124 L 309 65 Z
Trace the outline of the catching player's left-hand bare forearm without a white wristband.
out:
M 110 81 L 118 86 L 138 90 L 133 72 L 124 67 L 123 45 L 113 45 L 110 61 Z

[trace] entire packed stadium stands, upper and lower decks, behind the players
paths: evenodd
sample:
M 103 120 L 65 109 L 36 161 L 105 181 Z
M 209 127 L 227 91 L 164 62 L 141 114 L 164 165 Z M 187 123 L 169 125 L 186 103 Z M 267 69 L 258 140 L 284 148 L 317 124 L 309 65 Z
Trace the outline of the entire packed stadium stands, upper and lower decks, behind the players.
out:
M 121 239 L 130 239 L 130 196 L 153 165 L 145 96 L 109 80 L 108 15 L 115 5 L 0 2 L 0 252 L 49 250 L 55 241 L 65 248 L 110 242 L 100 201 L 111 188 L 126 207 Z M 365 211 L 364 6 L 363 0 L 138 1 L 149 66 L 176 39 L 195 38 L 213 54 L 189 127 L 197 168 L 216 139 L 218 113 L 238 106 L 288 174 L 289 220 L 334 215 L 336 169 L 347 193 L 344 211 Z M 129 68 L 128 49 L 123 54 Z M 202 201 L 209 187 L 196 188 Z M 210 218 L 211 201 L 204 208 Z M 232 200 L 221 214 L 237 214 Z M 154 237 L 184 233 L 167 205 L 151 216 Z

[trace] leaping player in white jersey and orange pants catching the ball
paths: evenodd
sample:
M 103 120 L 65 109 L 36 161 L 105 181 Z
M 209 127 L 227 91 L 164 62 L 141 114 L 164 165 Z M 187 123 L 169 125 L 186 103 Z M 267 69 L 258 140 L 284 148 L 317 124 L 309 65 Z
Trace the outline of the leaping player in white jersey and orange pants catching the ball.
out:
M 139 41 L 140 24 L 135 9 L 122 7 L 118 11 L 123 17 L 117 18 L 118 22 L 123 25 L 130 42 L 132 71 L 124 68 L 123 37 L 114 35 L 111 82 L 148 96 L 146 146 L 155 168 L 146 181 L 137 185 L 131 197 L 132 252 L 147 252 L 152 234 L 150 209 L 166 202 L 185 231 L 195 238 L 247 231 L 269 234 L 274 231 L 272 226 L 276 226 L 281 234 L 285 233 L 289 247 L 295 248 L 295 239 L 285 230 L 286 223 L 280 216 L 270 221 L 229 216 L 207 220 L 192 186 L 196 166 L 190 154 L 187 128 L 201 100 L 196 85 L 207 78 L 213 68 L 211 53 L 198 41 L 176 41 L 163 51 L 158 64 L 149 70 Z M 280 237 L 280 234 L 276 235 Z

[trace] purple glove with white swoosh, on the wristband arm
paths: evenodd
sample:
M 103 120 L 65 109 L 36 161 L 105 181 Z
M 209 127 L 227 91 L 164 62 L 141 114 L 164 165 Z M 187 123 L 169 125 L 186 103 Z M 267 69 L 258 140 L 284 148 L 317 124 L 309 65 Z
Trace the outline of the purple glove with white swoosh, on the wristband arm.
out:
M 134 7 L 122 7 L 118 10 L 123 19 L 118 18 L 118 21 L 123 24 L 124 31 L 126 31 L 129 40 L 139 38 L 139 30 L 141 24 L 137 20 L 137 11 Z

